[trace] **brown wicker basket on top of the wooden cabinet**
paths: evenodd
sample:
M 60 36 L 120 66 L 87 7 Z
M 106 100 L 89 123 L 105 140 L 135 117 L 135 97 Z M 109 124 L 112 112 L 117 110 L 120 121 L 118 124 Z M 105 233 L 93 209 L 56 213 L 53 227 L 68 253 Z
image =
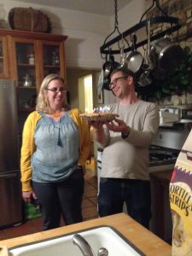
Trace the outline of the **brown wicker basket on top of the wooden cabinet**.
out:
M 30 32 L 50 32 L 51 24 L 47 15 L 38 9 L 13 8 L 9 11 L 9 25 L 12 29 Z

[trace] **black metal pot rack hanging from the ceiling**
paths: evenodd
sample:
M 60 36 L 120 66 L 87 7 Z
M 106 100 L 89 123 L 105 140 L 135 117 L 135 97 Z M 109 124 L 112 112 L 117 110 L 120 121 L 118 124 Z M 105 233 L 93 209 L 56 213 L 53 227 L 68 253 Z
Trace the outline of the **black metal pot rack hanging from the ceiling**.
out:
M 181 27 L 181 25 L 179 24 L 179 20 L 176 17 L 172 17 L 172 16 L 166 15 L 164 10 L 160 8 L 159 3 L 157 3 L 156 0 L 153 0 L 152 6 L 149 7 L 144 12 L 144 14 L 142 15 L 142 17 L 140 19 L 140 22 L 137 23 L 137 25 L 132 26 L 131 28 L 129 28 L 125 32 L 120 33 L 119 32 L 119 28 L 118 28 L 118 21 L 117 21 L 117 0 L 114 0 L 114 1 L 115 1 L 115 26 L 114 26 L 114 31 L 105 39 L 104 44 L 100 47 L 101 54 L 105 54 L 105 55 L 117 55 L 117 54 L 120 54 L 121 53 L 121 49 L 120 48 L 119 49 L 112 49 L 111 47 L 114 44 L 116 44 L 116 43 L 118 43 L 118 45 L 119 45 L 119 42 L 122 42 L 122 40 L 126 41 L 126 39 L 125 39 L 126 37 L 131 36 L 132 34 L 136 34 L 136 32 L 139 29 L 141 29 L 143 27 L 147 27 L 148 26 L 148 22 L 150 22 L 150 25 L 158 24 L 158 23 L 161 23 L 161 24 L 170 23 L 171 24 L 171 26 L 169 28 L 166 28 L 166 30 L 161 31 L 161 32 L 159 32 L 157 34 L 154 34 L 154 35 L 152 34 L 150 36 L 150 42 L 153 42 L 156 39 L 162 38 L 166 34 L 170 34 L 172 32 L 176 32 Z M 156 7 L 158 9 L 160 9 L 160 12 L 164 16 L 151 17 L 151 18 L 148 18 L 147 20 L 143 20 L 143 16 L 146 15 L 150 9 L 154 8 L 154 4 L 156 4 Z M 107 39 L 109 37 L 111 37 L 112 34 L 116 30 L 119 32 L 119 35 L 117 37 L 113 38 L 112 40 L 107 42 Z M 141 41 L 141 42 L 138 42 L 138 43 L 136 42 L 136 49 L 138 47 L 141 47 L 141 46 L 145 45 L 145 44 L 148 44 L 148 37 L 146 39 L 143 39 L 143 41 Z M 128 45 L 128 47 L 124 48 L 124 52 L 125 53 L 127 53 L 127 52 L 132 50 L 132 46 L 130 46 L 129 44 L 127 44 L 127 45 Z

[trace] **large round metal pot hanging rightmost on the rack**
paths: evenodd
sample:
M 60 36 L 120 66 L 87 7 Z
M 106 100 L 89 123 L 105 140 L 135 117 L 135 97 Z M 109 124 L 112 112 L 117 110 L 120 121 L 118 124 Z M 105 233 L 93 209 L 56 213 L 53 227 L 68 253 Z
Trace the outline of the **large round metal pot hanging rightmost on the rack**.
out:
M 171 71 L 183 61 L 183 49 L 168 36 L 160 38 L 151 47 L 149 58 L 152 68 Z

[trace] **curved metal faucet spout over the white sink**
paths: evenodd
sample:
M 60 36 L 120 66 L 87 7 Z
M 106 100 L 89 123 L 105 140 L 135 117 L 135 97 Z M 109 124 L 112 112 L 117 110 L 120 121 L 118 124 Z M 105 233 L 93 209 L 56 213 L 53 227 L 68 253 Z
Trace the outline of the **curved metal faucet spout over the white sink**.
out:
M 83 236 L 80 236 L 79 234 L 75 234 L 73 236 L 73 244 L 77 245 L 84 256 L 95 256 L 93 253 L 90 244 L 88 241 L 84 239 Z

